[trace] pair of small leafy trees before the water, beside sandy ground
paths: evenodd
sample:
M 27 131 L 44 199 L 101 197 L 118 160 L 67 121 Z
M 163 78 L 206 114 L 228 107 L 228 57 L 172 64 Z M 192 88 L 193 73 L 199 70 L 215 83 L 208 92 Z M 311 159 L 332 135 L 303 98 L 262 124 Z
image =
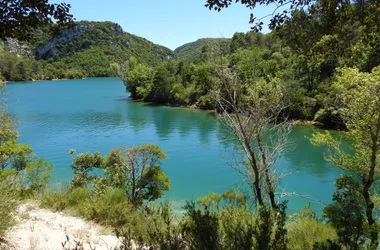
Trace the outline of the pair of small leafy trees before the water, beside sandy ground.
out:
M 74 154 L 70 150 L 70 154 Z M 161 160 L 167 156 L 153 144 L 130 148 L 114 148 L 103 157 L 99 152 L 73 155 L 72 187 L 94 186 L 99 194 L 109 187 L 124 190 L 133 206 L 154 201 L 170 189 L 169 178 L 161 169 Z

